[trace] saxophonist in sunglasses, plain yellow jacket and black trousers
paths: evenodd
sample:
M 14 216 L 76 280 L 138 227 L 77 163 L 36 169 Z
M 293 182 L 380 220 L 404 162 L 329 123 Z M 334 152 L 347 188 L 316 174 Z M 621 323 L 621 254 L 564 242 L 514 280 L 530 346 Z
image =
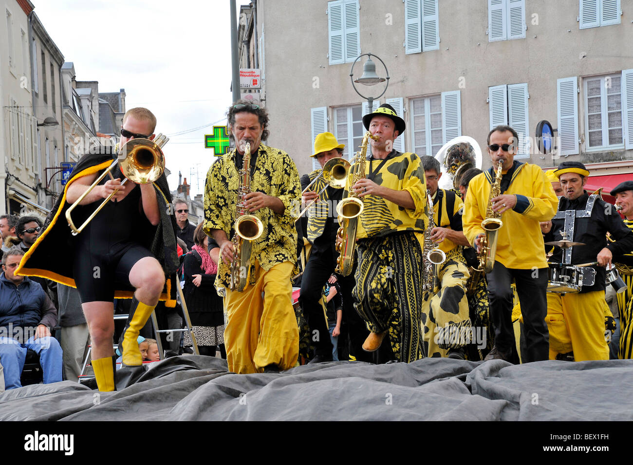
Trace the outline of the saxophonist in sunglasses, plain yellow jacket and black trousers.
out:
M 468 184 L 462 218 L 468 242 L 479 250 L 480 238 L 484 236 L 481 223 L 486 218 L 489 194 L 501 161 L 500 195 L 490 199 L 492 210 L 501 213 L 503 226 L 498 230 L 494 267 L 487 273 L 495 345 L 486 360 L 512 361 L 514 358 L 513 292 L 510 287 L 513 279 L 517 283 L 523 314 L 527 361 L 547 360 L 548 263 L 539 222 L 548 221 L 556 213 L 556 195 L 539 166 L 515 161 L 518 134 L 513 128 L 501 125 L 492 129 L 487 137 L 487 147 L 492 168 Z

